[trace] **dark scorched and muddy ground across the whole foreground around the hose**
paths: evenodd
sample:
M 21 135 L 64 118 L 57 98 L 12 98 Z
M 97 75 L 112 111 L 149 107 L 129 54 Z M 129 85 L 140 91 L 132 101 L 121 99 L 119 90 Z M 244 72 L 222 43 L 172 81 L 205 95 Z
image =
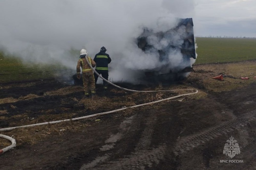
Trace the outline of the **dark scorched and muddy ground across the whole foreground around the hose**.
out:
M 183 85 L 188 84 L 189 81 L 183 82 Z M 206 92 L 200 83 L 194 82 L 192 86 Z M 98 99 L 105 96 L 115 100 L 116 96 L 125 98 L 130 94 L 109 87 L 103 92 L 101 86 L 97 86 Z M 127 84 L 124 87 L 148 88 Z M 63 88 L 66 89 L 63 93 L 58 91 Z M 9 136 L 14 133 L 18 139 L 14 149 L 0 155 L 0 169 L 253 170 L 256 169 L 255 89 L 256 84 L 252 83 L 232 91 L 207 92 L 203 98 L 186 97 L 181 102 L 167 101 L 71 122 L 72 125 L 63 123 L 59 125 L 63 129 L 86 126 L 52 132 L 44 138 L 39 137 L 33 144 L 29 140 L 22 141 L 22 133 L 16 129 L 2 132 Z M 143 97 L 144 94 L 134 96 L 135 104 L 144 103 Z M 161 96 L 167 97 L 168 94 Z M 0 116 L 5 118 L 0 120 L 0 128 L 32 124 L 27 117 L 39 123 L 60 120 L 63 115 L 73 118 L 124 106 L 124 101 L 117 98 L 120 106 L 87 108 L 86 102 L 78 102 L 83 100 L 82 87 L 57 80 L 4 84 L 0 88 L 0 99 Z M 95 122 L 95 119 L 100 121 Z M 48 126 L 51 127 L 55 128 Z M 34 135 L 38 133 L 40 129 L 33 132 Z M 224 145 L 231 136 L 240 147 L 240 154 L 232 159 L 223 154 Z M 220 160 L 243 160 L 243 163 L 220 163 Z

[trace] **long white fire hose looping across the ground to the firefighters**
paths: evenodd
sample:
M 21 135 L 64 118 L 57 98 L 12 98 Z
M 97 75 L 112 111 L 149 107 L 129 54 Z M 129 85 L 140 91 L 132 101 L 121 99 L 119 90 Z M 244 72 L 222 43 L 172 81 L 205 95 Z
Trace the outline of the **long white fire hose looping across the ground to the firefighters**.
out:
M 86 61 L 87 63 L 88 62 L 88 58 L 86 57 Z M 196 94 L 198 92 L 198 90 L 196 89 L 177 89 L 177 90 L 158 90 L 158 91 L 137 91 L 137 90 L 131 90 L 131 89 L 126 89 L 126 88 L 123 88 L 123 87 L 120 87 L 118 85 L 115 85 L 111 82 L 109 82 L 108 80 L 106 80 L 105 78 L 103 78 L 93 67 L 91 64 L 89 64 L 89 66 L 91 67 L 91 69 L 100 77 L 102 78 L 103 80 L 107 81 L 109 84 L 117 87 L 117 88 L 120 88 L 122 90 L 126 90 L 126 91 L 130 91 L 130 92 L 174 92 L 174 91 L 194 91 L 194 92 L 191 92 L 191 93 L 186 93 L 186 94 L 181 94 L 181 95 L 177 95 L 177 96 L 173 96 L 173 97 L 170 97 L 170 98 L 166 98 L 166 99 L 162 99 L 162 100 L 157 100 L 157 101 L 153 101 L 153 102 L 149 102 L 149 103 L 144 103 L 144 104 L 140 104 L 140 105 L 135 105 L 135 106 L 130 106 L 130 107 L 124 107 L 124 108 L 121 108 L 121 109 L 116 109 L 116 110 L 112 110 L 112 111 L 108 111 L 108 112 L 102 112 L 102 113 L 97 113 L 97 114 L 94 114 L 94 115 L 88 115 L 88 116 L 82 116 L 82 117 L 77 117 L 77 118 L 73 118 L 73 119 L 65 119 L 65 120 L 59 120 L 59 121 L 53 121 L 53 122 L 44 122 L 44 123 L 36 123 L 36 124 L 30 124 L 30 125 L 23 125 L 23 126 L 16 126 L 16 127 L 10 127 L 10 128 L 2 128 L 0 129 L 0 132 L 3 132 L 3 131 L 9 131 L 9 130 L 13 130 L 13 129 L 16 129 L 16 128 L 28 128 L 28 127 L 34 127 L 34 126 L 42 126 L 42 125 L 48 125 L 48 124 L 56 124 L 56 123 L 61 123 L 61 122 L 68 122 L 68 121 L 78 121 L 78 120 L 82 120 L 82 119 L 88 119 L 88 118 L 92 118 L 92 117 L 96 117 L 96 116 L 101 116 L 101 115 L 107 115 L 107 114 L 110 114 L 110 113 L 114 113 L 114 112 L 118 112 L 118 111 L 122 111 L 122 110 L 125 110 L 127 108 L 135 108 L 135 107 L 140 107 L 140 106 L 145 106 L 145 105 L 150 105 L 150 104 L 155 104 L 155 103 L 159 103 L 159 102 L 162 102 L 162 101 L 166 101 L 166 100 L 172 100 L 172 99 L 175 99 L 175 98 L 179 98 L 179 97 L 182 97 L 182 96 L 187 96 L 187 95 L 191 95 L 191 94 Z M 5 135 L 0 135 L 0 137 L 8 137 L 8 136 L 5 136 Z M 16 146 L 16 142 L 15 142 L 15 139 L 14 139 L 14 142 L 13 142 L 13 138 L 11 137 L 8 137 L 8 140 L 11 140 L 12 141 L 12 145 L 2 149 L 4 152 L 12 149 L 13 147 Z M 0 154 L 1 154 L 1 151 L 0 150 Z M 3 152 L 2 152 L 3 153 Z

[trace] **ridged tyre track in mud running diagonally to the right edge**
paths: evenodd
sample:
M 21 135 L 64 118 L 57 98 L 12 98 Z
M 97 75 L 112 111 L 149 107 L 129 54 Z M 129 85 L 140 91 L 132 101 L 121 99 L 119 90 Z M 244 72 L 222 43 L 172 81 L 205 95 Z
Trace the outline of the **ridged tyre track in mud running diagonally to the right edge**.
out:
M 234 129 L 244 127 L 247 122 L 250 122 L 256 118 L 256 110 L 237 116 L 235 119 L 223 123 L 219 126 L 210 128 L 204 132 L 195 134 L 193 136 L 181 137 L 178 139 L 176 146 L 173 150 L 175 155 L 186 153 L 189 150 L 204 144 L 216 137 L 219 137 L 225 133 L 231 132 Z

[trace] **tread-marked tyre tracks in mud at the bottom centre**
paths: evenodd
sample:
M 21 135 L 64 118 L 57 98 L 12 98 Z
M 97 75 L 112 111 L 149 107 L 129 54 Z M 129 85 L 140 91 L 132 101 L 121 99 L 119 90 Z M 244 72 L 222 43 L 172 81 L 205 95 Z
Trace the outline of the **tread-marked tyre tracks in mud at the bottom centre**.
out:
M 152 165 L 158 164 L 161 159 L 164 158 L 164 153 L 166 149 L 165 144 L 160 144 L 156 148 L 150 148 L 152 135 L 154 133 L 154 127 L 156 125 L 156 115 L 149 114 L 148 117 L 143 120 L 145 122 L 145 129 L 141 134 L 141 138 L 134 148 L 134 152 L 131 154 L 123 155 L 122 158 L 112 159 L 111 155 L 104 161 L 100 161 L 96 164 L 90 166 L 91 169 L 145 169 L 146 167 L 151 167 Z M 140 122 L 140 121 L 139 121 Z M 137 122 L 137 123 L 139 123 Z M 133 126 L 135 122 L 132 124 Z M 130 128 L 129 128 L 130 129 Z M 119 133 L 119 132 L 118 132 Z M 120 155 L 124 149 L 118 150 L 116 155 Z M 113 155 L 114 156 L 114 155 Z M 99 160 L 99 158 L 98 158 Z M 100 165 L 101 164 L 101 165 Z M 88 168 L 89 165 L 84 165 L 82 169 Z

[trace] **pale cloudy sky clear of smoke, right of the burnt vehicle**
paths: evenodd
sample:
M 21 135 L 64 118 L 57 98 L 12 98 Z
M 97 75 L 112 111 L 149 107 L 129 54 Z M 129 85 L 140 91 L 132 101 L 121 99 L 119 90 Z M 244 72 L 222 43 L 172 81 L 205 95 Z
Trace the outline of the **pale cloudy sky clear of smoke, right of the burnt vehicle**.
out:
M 255 0 L 195 0 L 193 19 L 196 35 L 256 37 Z

